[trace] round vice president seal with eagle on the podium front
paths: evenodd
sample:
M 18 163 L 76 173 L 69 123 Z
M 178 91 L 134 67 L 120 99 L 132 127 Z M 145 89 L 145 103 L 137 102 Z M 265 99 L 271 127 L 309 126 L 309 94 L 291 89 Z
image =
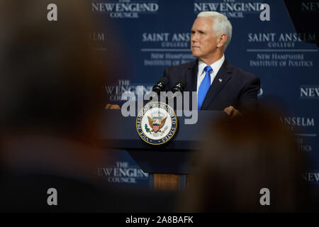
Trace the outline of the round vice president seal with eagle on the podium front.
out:
M 167 104 L 150 102 L 138 113 L 136 129 L 146 143 L 167 143 L 177 131 L 177 116 L 174 109 Z

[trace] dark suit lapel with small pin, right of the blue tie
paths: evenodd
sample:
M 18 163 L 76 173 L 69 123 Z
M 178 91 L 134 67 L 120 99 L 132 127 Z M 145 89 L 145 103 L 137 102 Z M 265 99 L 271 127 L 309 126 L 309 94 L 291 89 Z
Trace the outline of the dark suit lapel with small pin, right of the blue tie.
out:
M 211 84 L 211 87 L 209 87 L 208 92 L 205 96 L 205 99 L 203 101 L 203 104 L 201 106 L 201 110 L 208 109 L 209 104 L 215 99 L 217 94 L 220 92 L 220 89 L 223 88 L 223 86 L 228 82 L 228 79 L 230 79 L 231 70 L 230 67 L 228 67 L 229 64 L 227 60 L 225 59 L 223 62 L 222 67 L 220 67 L 220 70 L 218 70 L 218 74 L 216 75 L 215 79 L 213 80 L 213 83 Z

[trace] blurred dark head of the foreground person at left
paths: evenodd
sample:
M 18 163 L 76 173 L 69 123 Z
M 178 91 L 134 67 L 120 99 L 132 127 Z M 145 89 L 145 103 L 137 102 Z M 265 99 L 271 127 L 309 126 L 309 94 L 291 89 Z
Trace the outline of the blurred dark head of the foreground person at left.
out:
M 1 1 L 2 133 L 37 132 L 90 140 L 103 104 L 108 65 L 89 34 L 99 29 L 88 1 Z M 105 53 L 105 52 L 103 52 Z

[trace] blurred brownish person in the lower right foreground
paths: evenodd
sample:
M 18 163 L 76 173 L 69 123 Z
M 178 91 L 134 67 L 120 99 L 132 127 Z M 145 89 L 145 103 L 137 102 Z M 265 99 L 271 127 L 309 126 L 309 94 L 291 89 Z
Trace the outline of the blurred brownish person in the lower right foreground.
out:
M 302 174 L 307 161 L 274 109 L 211 123 L 196 160 L 193 188 L 179 211 L 295 212 L 310 210 Z M 259 202 L 269 189 L 270 206 Z

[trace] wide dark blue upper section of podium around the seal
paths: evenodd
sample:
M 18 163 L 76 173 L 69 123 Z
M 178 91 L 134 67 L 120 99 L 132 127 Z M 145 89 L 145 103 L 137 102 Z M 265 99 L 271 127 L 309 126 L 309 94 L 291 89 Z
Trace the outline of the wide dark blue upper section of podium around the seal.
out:
M 99 143 L 103 148 L 123 150 L 196 150 L 203 140 L 203 132 L 223 111 L 198 111 L 195 124 L 185 124 L 185 116 L 178 117 L 174 138 L 164 145 L 150 145 L 142 141 L 136 130 L 136 116 L 124 117 L 121 110 L 105 110 L 99 129 Z

